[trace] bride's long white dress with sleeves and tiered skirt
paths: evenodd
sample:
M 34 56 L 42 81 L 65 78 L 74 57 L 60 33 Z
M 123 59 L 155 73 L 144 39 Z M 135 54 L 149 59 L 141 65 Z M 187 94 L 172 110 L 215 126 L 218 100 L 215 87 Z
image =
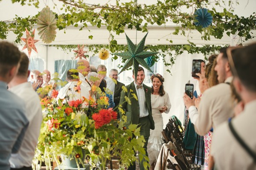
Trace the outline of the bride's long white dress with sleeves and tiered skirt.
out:
M 168 93 L 165 92 L 165 95 L 163 96 L 151 94 L 151 106 L 155 129 L 150 130 L 150 136 L 148 138 L 147 151 L 149 164 L 157 162 L 157 158 L 163 144 L 161 133 L 163 130 L 163 113 L 160 113 L 159 107 L 166 106 L 167 110 L 164 113 L 169 113 L 171 109 L 171 102 Z

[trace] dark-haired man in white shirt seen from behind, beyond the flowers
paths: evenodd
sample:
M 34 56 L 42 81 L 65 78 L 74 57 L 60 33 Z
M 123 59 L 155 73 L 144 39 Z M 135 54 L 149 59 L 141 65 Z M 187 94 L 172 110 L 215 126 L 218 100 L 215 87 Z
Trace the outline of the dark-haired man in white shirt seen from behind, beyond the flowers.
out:
M 79 82 L 79 72 L 74 69 L 69 69 L 67 71 L 67 82 L 64 87 L 62 87 L 58 93 L 58 98 L 66 98 L 68 101 L 81 99 L 83 96 L 89 98 L 89 91 L 85 89 L 84 86 L 78 85 Z

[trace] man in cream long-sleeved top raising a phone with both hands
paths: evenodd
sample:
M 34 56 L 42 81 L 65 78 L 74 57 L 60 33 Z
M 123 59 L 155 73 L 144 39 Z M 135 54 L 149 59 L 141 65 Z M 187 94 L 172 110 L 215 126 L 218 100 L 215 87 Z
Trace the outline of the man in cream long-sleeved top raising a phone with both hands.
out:
M 207 134 L 212 127 L 215 129 L 233 115 L 232 92 L 229 85 L 233 77 L 226 48 L 221 49 L 216 61 L 214 69 L 217 71 L 220 84 L 204 91 L 198 111 L 195 107 L 195 98 L 192 100 L 185 93 L 183 96 L 184 104 L 189 108 L 189 118 L 199 135 Z

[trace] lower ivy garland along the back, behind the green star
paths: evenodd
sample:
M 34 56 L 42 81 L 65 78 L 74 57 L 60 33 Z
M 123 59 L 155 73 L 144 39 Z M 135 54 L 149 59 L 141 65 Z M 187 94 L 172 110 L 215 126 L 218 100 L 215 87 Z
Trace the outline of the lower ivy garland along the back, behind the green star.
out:
M 50 45 L 55 46 L 57 49 L 63 49 L 65 52 L 71 52 L 73 49 L 76 49 L 76 45 Z M 204 59 L 207 61 L 208 57 L 212 54 L 218 54 L 219 50 L 225 46 L 218 46 L 218 45 L 145 45 L 144 49 L 146 51 L 151 52 L 160 52 L 159 54 L 155 55 L 154 60 L 157 62 L 159 58 L 163 58 L 163 63 L 165 66 L 168 67 L 167 71 L 171 73 L 172 65 L 175 63 L 175 60 L 178 55 L 181 55 L 184 51 L 188 52 L 189 54 L 203 54 Z M 93 53 L 93 57 L 97 56 L 99 50 L 105 48 L 109 49 L 108 45 L 87 45 L 84 46 L 88 49 L 88 51 Z M 115 46 L 116 52 L 123 52 L 128 51 L 127 45 L 116 45 Z M 168 56 L 168 57 L 167 57 Z M 111 58 L 112 61 L 118 59 L 115 55 Z M 125 59 L 122 58 L 122 63 L 125 63 Z M 118 66 L 119 68 L 122 67 L 122 64 Z

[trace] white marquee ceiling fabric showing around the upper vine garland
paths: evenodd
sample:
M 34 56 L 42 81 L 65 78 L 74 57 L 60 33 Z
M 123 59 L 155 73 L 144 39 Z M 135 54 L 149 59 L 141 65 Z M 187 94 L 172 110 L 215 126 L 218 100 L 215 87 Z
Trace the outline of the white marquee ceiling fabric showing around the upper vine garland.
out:
M 95 2 L 96 1 L 97 0 L 95 0 Z M 154 3 L 154 1 L 155 0 L 138 0 L 138 3 Z M 42 3 L 41 6 L 41 8 L 36 9 L 34 6 L 21 6 L 19 3 L 12 4 L 11 0 L 2 0 L 0 1 L 0 20 L 11 20 L 12 18 L 15 17 L 15 14 L 17 14 L 20 17 L 35 15 L 45 6 L 45 4 Z M 255 6 L 256 0 L 239 0 L 239 6 L 236 6 L 234 13 L 247 17 L 248 15 L 255 12 Z M 90 32 L 88 30 L 90 30 Z M 211 40 L 205 41 L 201 40 L 201 34 L 196 30 L 186 31 L 187 37 L 183 35 L 172 35 L 172 32 L 174 32 L 174 30 L 175 26 L 173 26 L 172 23 L 169 23 L 168 26 L 148 26 L 149 33 L 145 41 L 145 44 L 189 44 L 188 40 L 195 44 L 234 44 L 239 42 L 239 37 L 234 36 L 233 38 L 231 38 L 227 36 L 225 33 L 221 40 L 211 37 Z M 88 29 L 83 29 L 82 31 L 79 31 L 79 27 L 77 28 L 70 26 L 65 30 L 65 32 L 66 33 L 64 33 L 64 30 L 57 31 L 55 41 L 50 44 L 109 44 L 109 32 L 106 29 L 106 27 L 101 27 L 99 29 L 97 27 L 89 26 Z M 256 30 L 253 30 L 252 32 L 253 35 L 256 35 Z M 134 43 L 136 42 L 135 29 L 126 29 L 125 33 L 128 35 L 128 37 L 131 38 L 131 40 Z M 145 32 L 137 32 L 137 42 L 140 42 L 140 40 L 144 37 L 145 34 Z M 92 40 L 88 38 L 89 35 L 93 35 Z M 15 39 L 16 35 L 10 32 L 7 37 L 7 40 L 10 42 L 14 42 Z M 35 39 L 40 40 L 39 35 L 37 34 L 37 30 L 35 34 Z M 170 43 L 166 39 L 172 40 L 173 43 Z M 126 44 L 125 34 L 115 35 L 115 40 L 117 40 L 118 44 Z M 256 38 L 254 39 L 254 41 L 255 40 Z M 246 43 L 250 43 L 250 41 Z M 39 41 L 36 44 L 46 45 L 41 41 Z

